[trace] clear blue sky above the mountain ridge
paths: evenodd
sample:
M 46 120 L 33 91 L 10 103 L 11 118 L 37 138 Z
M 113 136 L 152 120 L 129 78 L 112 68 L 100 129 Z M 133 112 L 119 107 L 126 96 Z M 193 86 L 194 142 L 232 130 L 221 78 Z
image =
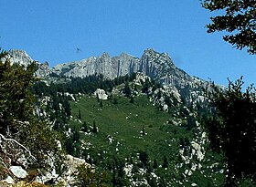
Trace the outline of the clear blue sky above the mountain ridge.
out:
M 103 52 L 141 57 L 154 48 L 190 75 L 256 83 L 255 56 L 207 34 L 213 14 L 199 0 L 1 0 L 1 7 L 0 47 L 26 50 L 51 67 Z

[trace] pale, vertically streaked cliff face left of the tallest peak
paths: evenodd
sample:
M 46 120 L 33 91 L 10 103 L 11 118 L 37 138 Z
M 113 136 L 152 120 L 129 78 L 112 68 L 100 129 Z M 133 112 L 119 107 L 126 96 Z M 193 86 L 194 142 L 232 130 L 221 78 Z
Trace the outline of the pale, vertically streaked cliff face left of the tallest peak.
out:
M 110 57 L 103 53 L 101 57 L 90 57 L 78 62 L 59 64 L 51 69 L 52 73 L 64 77 L 85 78 L 90 75 L 102 74 L 105 78 L 117 78 L 137 72 L 139 59 L 122 54 L 119 57 Z

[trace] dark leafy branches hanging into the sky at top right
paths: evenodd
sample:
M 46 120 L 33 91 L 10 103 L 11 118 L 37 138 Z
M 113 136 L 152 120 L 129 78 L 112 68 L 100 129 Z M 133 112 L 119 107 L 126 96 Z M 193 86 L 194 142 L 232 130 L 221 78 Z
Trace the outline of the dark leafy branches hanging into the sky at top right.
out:
M 211 17 L 208 33 L 226 31 L 230 35 L 223 39 L 242 49 L 247 47 L 250 54 L 256 54 L 256 1 L 255 0 L 205 0 L 203 7 L 209 11 L 222 13 Z

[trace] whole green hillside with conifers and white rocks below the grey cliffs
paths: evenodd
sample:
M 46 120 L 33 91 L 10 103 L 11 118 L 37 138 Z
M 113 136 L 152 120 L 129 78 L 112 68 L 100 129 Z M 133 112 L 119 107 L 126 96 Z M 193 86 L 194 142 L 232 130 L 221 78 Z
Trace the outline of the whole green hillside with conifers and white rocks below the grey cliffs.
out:
M 94 92 L 104 89 L 108 99 Z M 67 153 L 104 173 L 109 186 L 219 186 L 225 161 L 208 149 L 207 103 L 198 88 L 164 88 L 140 75 L 37 84 Z M 192 94 L 193 92 L 193 94 Z M 195 95 L 197 94 L 197 95 Z M 191 97 L 193 95 L 193 97 Z M 101 176 L 101 174 L 99 175 Z

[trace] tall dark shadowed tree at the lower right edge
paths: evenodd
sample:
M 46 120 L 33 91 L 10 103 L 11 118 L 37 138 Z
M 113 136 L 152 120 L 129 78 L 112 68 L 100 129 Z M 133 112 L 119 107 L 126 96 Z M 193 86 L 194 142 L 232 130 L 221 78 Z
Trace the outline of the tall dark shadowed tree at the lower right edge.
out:
M 236 186 L 240 179 L 256 173 L 256 96 L 250 87 L 242 91 L 242 78 L 229 81 L 229 87 L 222 90 L 212 85 L 209 92 L 216 117 L 209 119 L 205 128 L 211 146 L 222 151 L 227 159 L 228 177 L 226 186 Z

